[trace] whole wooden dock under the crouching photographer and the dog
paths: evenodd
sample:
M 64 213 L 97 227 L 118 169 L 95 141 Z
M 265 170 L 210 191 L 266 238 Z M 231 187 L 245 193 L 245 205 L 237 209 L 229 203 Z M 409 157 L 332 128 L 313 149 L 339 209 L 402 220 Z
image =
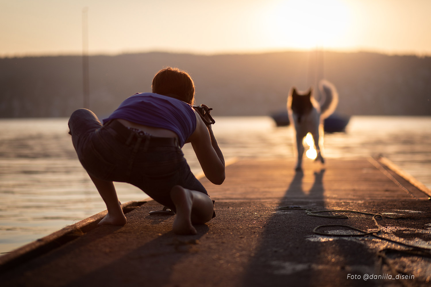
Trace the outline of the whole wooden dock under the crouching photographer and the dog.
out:
M 201 179 L 217 217 L 197 225 L 197 235 L 174 235 L 173 216 L 148 214 L 161 209 L 154 201 L 131 202 L 124 205 L 123 227 L 96 228 L 100 213 L 0 257 L 0 281 L 2 286 L 169 287 L 429 282 L 429 257 L 403 255 L 406 246 L 372 236 L 313 233 L 316 226 L 337 224 L 376 231 L 371 216 L 334 219 L 304 212 L 380 213 L 376 222 L 383 238 L 429 248 L 428 188 L 384 158 L 328 159 L 324 167 L 306 161 L 303 173 L 293 167 L 293 160 L 242 159 L 226 168 L 222 185 Z M 334 232 L 350 232 L 339 229 Z M 394 272 L 410 277 L 388 279 Z M 362 279 L 349 279 L 352 274 Z M 386 279 L 364 281 L 366 274 Z

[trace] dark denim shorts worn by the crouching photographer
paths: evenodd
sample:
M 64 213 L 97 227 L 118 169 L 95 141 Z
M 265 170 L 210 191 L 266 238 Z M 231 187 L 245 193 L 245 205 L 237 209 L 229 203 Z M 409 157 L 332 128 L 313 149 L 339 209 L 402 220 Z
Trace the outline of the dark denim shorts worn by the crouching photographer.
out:
M 175 185 L 208 195 L 191 172 L 176 138 L 136 132 L 118 120 L 102 125 L 87 109 L 72 113 L 69 129 L 79 161 L 91 176 L 128 182 L 173 211 L 170 191 Z

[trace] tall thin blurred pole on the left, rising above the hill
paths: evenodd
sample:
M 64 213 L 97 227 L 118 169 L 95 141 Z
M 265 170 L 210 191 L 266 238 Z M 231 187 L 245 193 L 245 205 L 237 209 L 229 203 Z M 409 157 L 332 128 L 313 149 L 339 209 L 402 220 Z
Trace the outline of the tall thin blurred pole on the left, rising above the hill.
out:
M 84 108 L 90 108 L 90 78 L 88 70 L 88 7 L 85 7 L 82 9 L 82 89 Z

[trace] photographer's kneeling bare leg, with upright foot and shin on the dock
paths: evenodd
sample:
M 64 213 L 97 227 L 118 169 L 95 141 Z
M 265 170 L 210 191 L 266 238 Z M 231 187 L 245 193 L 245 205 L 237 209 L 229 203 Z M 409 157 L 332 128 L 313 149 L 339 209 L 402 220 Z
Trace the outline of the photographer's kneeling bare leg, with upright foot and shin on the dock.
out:
M 214 205 L 208 195 L 175 185 L 171 190 L 176 215 L 172 230 L 176 234 L 196 234 L 192 223 L 203 224 L 212 219 Z

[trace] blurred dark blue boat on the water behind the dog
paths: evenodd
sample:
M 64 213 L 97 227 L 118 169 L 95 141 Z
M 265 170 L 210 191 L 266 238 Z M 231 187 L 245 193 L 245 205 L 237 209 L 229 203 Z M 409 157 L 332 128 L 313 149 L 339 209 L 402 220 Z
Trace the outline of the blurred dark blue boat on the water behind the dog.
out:
M 285 127 L 290 125 L 289 115 L 287 111 L 279 111 L 271 114 L 277 127 Z M 325 133 L 345 132 L 350 116 L 331 114 L 323 121 L 323 130 Z

